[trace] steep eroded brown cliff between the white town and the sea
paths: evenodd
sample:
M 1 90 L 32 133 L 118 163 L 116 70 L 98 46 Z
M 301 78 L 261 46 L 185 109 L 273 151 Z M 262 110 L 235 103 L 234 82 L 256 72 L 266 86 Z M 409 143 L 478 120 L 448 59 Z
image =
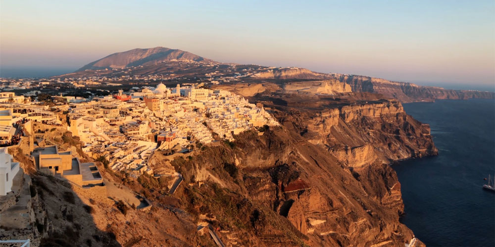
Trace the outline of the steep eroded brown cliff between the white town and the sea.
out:
M 282 126 L 174 160 L 186 182 L 175 196 L 233 246 L 409 243 L 388 164 L 435 155 L 429 127 L 396 100 L 346 95 L 255 94 Z

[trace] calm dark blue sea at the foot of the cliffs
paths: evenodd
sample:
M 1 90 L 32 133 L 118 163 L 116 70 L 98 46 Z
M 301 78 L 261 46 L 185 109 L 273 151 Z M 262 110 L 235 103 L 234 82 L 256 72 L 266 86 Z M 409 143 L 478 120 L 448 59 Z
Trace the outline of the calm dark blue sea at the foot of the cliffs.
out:
M 495 246 L 495 194 L 482 189 L 495 173 L 495 101 L 404 104 L 430 124 L 436 157 L 392 167 L 402 188 L 401 222 L 427 246 Z

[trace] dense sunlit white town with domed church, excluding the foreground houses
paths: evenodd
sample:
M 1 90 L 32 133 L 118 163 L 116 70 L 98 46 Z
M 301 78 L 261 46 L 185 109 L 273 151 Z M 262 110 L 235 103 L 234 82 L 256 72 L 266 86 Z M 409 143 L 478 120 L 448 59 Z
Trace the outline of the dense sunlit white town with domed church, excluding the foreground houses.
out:
M 20 139 L 15 133 L 19 123 L 63 124 L 80 138 L 86 154 L 105 157 L 113 170 L 137 177 L 143 172 L 160 175 L 147 164 L 154 151 L 187 154 L 202 145 L 215 145 L 218 139 L 233 141 L 253 127 L 279 125 L 262 105 L 225 90 L 204 88 L 202 83 L 172 88 L 160 83 L 127 94 L 120 90 L 92 99 L 65 98 L 68 104 L 43 107 L 12 92 L 0 93 L 3 143 Z M 67 119 L 61 120 L 54 111 L 66 112 Z

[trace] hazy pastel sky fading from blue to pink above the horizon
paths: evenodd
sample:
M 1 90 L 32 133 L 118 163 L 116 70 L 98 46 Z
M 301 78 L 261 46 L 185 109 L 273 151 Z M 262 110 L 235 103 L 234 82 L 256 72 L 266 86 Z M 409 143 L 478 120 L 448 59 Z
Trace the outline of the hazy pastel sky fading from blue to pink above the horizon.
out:
M 69 72 L 164 46 L 220 62 L 495 83 L 495 1 L 0 1 L 0 66 Z

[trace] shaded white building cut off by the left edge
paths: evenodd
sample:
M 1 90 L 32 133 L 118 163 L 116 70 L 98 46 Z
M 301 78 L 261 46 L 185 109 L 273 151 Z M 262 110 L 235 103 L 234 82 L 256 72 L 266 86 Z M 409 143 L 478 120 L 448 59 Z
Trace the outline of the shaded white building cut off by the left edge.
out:
M 7 148 L 0 148 L 0 196 L 5 196 L 12 191 L 12 181 L 19 172 L 19 163 L 12 162 L 12 156 Z

